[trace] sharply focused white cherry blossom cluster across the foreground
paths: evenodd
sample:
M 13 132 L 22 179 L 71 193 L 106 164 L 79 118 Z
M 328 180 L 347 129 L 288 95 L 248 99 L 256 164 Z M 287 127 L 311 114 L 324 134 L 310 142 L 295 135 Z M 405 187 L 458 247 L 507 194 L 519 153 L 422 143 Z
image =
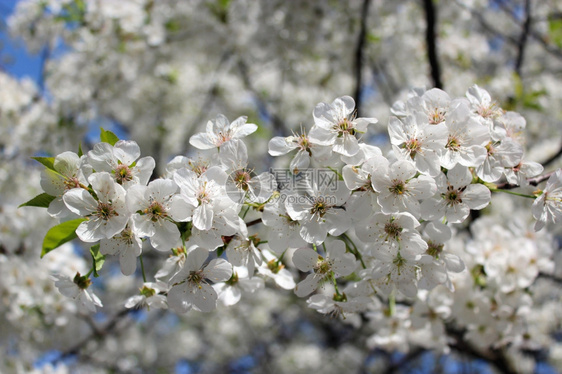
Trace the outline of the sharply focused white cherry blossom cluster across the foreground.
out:
M 437 286 L 453 291 L 451 279 L 467 263 L 447 250 L 454 225 L 485 208 L 498 183 L 528 187 L 542 166 L 524 158 L 523 117 L 478 86 L 454 99 L 439 89 L 414 91 L 392 112 L 392 151 L 383 155 L 367 143 L 377 120 L 357 118 L 351 97 L 318 104 L 312 128 L 269 142 L 271 156 L 296 151 L 284 174 L 254 173 L 243 139 L 257 125 L 222 115 L 191 137 L 197 154 L 175 157 L 156 179 L 153 158 L 104 130 L 86 154 L 40 158 L 48 212 L 63 221 L 53 233 L 70 227 L 68 239 L 75 234 L 92 245 L 90 272 L 56 275 L 55 285 L 95 310 L 101 302 L 89 277 L 115 255 L 124 275 L 140 258 L 145 283 L 128 307 L 178 313 L 235 304 L 263 288 L 264 278 L 308 297 L 321 313 L 344 317 L 372 310 L 379 298 L 393 304 Z M 561 183 L 558 170 L 544 191 L 528 195 L 535 229 L 560 219 Z M 143 242 L 169 256 L 153 282 L 142 266 L 150 250 Z M 478 265 L 498 274 L 495 286 L 504 293 L 537 276 L 535 267 L 521 268 L 537 262 L 529 251 L 488 261 L 478 248 L 471 272 Z M 306 277 L 295 281 L 295 268 Z M 327 285 L 333 294 L 322 292 Z

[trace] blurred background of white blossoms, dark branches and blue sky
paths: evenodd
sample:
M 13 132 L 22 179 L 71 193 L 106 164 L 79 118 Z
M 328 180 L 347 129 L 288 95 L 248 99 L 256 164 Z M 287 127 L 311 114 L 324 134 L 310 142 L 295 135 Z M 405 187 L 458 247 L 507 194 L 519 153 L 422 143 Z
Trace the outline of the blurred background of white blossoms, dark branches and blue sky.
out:
M 0 14 L 0 372 L 561 370 L 558 278 L 537 279 L 530 292 L 524 324 L 536 336 L 525 344 L 479 346 L 457 330 L 430 344 L 411 325 L 411 305 L 393 316 L 329 318 L 271 280 L 216 313 L 130 311 L 124 301 L 142 277 L 124 277 L 115 259 L 93 286 L 104 308 L 90 315 L 50 279 L 85 272 L 89 254 L 69 244 L 40 260 L 52 222 L 17 209 L 41 192 L 32 156 L 77 152 L 78 144 L 86 152 L 100 127 L 138 142 L 160 176 L 173 156 L 191 154 L 189 137 L 209 119 L 246 115 L 259 124 L 250 160 L 264 171 L 288 164 L 264 157 L 267 140 L 310 128 L 314 106 L 343 95 L 354 97 L 359 116 L 378 118 L 368 140 L 389 149 L 390 107 L 418 87 L 452 97 L 485 88 L 526 118 L 528 159 L 555 170 L 560 1 L 0 0 Z M 527 217 L 524 203 L 498 200 L 486 214 Z M 153 268 L 163 260 L 154 251 L 145 258 Z

